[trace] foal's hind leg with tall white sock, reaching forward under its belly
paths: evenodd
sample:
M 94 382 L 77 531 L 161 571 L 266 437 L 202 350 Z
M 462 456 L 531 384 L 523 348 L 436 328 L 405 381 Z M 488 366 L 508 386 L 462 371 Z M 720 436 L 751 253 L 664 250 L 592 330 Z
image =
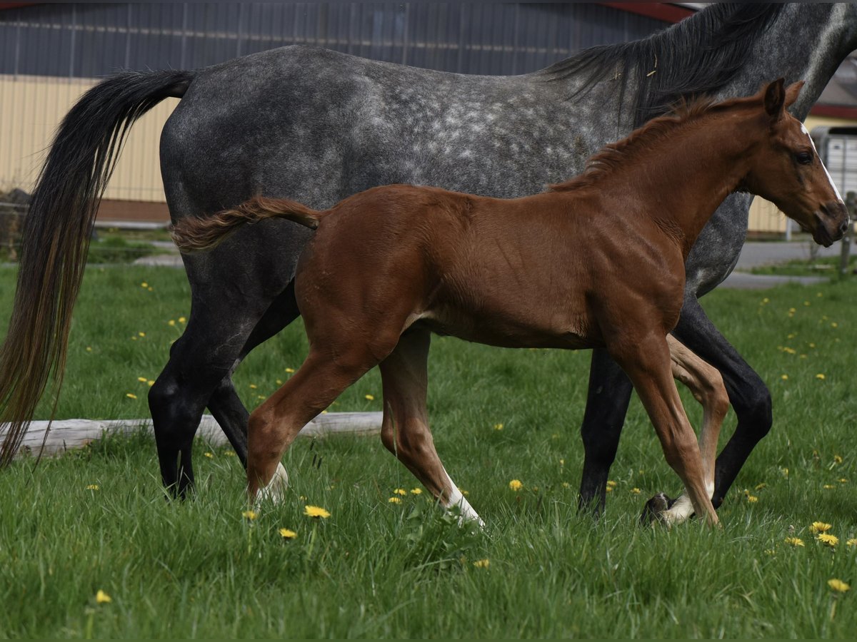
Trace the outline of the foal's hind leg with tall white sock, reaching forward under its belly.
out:
M 409 330 L 387 359 L 381 361 L 384 388 L 381 441 L 446 508 L 457 506 L 462 519 L 483 526 L 479 515 L 446 473 L 428 430 L 426 365 L 430 340 L 428 330 Z

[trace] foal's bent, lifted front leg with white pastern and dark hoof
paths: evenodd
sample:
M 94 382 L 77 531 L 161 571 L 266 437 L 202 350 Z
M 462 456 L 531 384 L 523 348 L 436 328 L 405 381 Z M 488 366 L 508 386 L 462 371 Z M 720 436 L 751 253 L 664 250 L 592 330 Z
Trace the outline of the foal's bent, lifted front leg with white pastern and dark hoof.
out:
M 702 404 L 702 428 L 699 431 L 699 452 L 702 455 L 705 491 L 708 496 L 714 494 L 714 469 L 717 455 L 717 439 L 723 419 L 729 408 L 729 397 L 723 378 L 716 368 L 705 363 L 696 354 L 686 348 L 674 336 L 667 336 L 669 356 L 672 360 L 673 377 L 690 389 L 694 398 Z M 678 523 L 693 514 L 693 505 L 685 491 L 668 509 L 663 504 L 668 501 L 663 494 L 652 497 L 644 510 L 643 520 L 663 520 Z M 657 506 L 660 509 L 651 509 Z

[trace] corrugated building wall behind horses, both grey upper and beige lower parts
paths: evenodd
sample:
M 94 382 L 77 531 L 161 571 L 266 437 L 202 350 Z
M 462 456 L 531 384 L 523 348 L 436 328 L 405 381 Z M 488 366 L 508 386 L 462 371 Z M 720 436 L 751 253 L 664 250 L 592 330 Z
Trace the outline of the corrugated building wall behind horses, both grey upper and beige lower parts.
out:
M 30 191 L 75 100 L 120 68 L 199 68 L 303 43 L 468 74 L 523 74 L 666 27 L 581 3 L 45 3 L 0 11 L 0 190 Z M 131 129 L 107 199 L 164 200 L 168 100 Z M 161 211 L 162 212 L 162 211 Z M 159 213 L 162 216 L 162 213 Z

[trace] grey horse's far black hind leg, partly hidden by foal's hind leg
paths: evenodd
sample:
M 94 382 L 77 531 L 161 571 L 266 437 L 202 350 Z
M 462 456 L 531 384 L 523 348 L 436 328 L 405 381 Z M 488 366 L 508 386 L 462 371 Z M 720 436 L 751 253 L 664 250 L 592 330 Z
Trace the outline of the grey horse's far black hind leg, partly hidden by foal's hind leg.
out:
M 238 356 L 238 361 L 243 361 L 253 348 L 283 330 L 298 316 L 300 316 L 300 312 L 297 310 L 297 301 L 295 301 L 295 282 L 292 281 L 289 283 L 289 287 L 285 288 L 283 294 L 280 294 L 273 301 L 265 315 L 256 324 Z M 207 406 L 224 431 L 232 449 L 235 450 L 235 454 L 238 455 L 241 465 L 246 468 L 249 413 L 238 397 L 235 386 L 232 385 L 231 373 L 224 377 L 214 389 Z

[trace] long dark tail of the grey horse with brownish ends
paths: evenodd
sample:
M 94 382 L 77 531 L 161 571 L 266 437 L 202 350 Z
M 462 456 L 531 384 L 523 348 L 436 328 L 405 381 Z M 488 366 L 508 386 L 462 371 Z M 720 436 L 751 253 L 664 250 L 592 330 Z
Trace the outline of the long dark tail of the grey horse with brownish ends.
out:
M 90 233 L 125 136 L 161 100 L 182 98 L 194 75 L 112 76 L 86 92 L 57 130 L 24 220 L 15 305 L 0 349 L 0 466 L 15 456 L 51 378 L 55 394 L 62 385 Z

